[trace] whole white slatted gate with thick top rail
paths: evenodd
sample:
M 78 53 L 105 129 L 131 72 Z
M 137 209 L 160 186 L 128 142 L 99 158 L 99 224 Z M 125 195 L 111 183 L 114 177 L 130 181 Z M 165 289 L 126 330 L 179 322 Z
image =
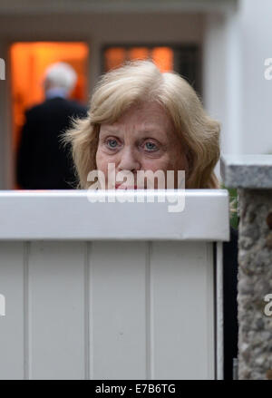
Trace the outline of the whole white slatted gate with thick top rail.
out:
M 162 192 L 1 191 L 1 379 L 222 378 L 228 191 Z

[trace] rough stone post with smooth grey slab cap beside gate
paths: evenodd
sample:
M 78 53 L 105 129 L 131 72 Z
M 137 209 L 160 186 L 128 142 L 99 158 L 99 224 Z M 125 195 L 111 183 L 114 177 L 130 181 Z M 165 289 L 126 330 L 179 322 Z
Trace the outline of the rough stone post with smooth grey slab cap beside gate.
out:
M 272 156 L 221 161 L 238 189 L 238 379 L 272 379 Z

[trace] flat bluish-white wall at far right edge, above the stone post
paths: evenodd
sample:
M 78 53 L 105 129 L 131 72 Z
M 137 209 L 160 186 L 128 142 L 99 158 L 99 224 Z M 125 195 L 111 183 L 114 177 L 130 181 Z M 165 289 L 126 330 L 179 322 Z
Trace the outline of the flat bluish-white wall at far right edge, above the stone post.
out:
M 241 0 L 242 153 L 272 153 L 272 80 L 264 78 L 272 58 L 272 2 Z

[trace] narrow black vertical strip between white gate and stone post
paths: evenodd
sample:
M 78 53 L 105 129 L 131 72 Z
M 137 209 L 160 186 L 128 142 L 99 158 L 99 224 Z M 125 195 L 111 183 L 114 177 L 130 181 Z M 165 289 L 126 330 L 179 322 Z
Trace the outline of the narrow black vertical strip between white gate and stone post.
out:
M 224 379 L 232 380 L 233 358 L 238 357 L 238 231 L 230 228 L 223 242 Z

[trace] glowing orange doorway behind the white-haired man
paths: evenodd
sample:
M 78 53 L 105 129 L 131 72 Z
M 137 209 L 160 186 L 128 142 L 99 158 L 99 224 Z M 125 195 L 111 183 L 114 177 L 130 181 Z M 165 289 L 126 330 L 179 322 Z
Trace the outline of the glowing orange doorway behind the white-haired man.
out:
M 16 160 L 18 144 L 24 125 L 24 112 L 44 101 L 43 77 L 52 63 L 73 66 L 77 83 L 70 98 L 86 103 L 88 100 L 89 47 L 83 42 L 18 42 L 10 47 L 12 89 L 12 150 Z M 14 179 L 15 180 L 15 179 Z M 18 189 L 15 182 L 14 189 Z

